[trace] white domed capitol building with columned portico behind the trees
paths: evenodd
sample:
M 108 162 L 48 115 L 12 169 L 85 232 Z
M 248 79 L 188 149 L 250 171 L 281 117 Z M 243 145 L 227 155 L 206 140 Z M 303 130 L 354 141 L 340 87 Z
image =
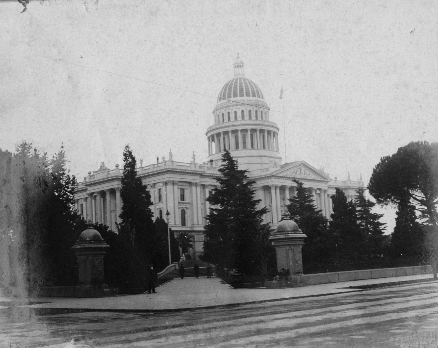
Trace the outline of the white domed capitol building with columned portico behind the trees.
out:
M 162 158 L 156 164 L 141 166 L 138 177 L 147 185 L 153 205 L 154 217 L 166 219 L 170 212 L 170 228 L 177 236 L 186 232 L 194 241 L 192 256 L 202 254 L 205 216 L 209 205 L 205 199 L 217 186 L 223 149 L 228 149 L 238 161 L 239 169 L 246 169 L 255 180 L 255 198 L 261 199 L 259 208 L 266 206 L 269 212 L 265 222 L 275 228 L 289 203 L 287 198 L 295 195 L 296 178 L 304 183 L 314 198 L 314 204 L 328 219 L 332 213 L 331 196 L 335 188 L 341 188 L 347 199 L 353 199 L 361 181 L 332 180 L 324 171 L 303 160 L 282 164 L 279 152 L 279 127 L 270 121 L 269 106 L 261 89 L 244 75 L 244 63 L 237 57 L 233 64 L 234 77 L 220 90 L 213 109 L 212 125 L 205 133 L 208 144 L 208 160 L 196 163 L 178 162 Z M 88 172 L 75 191 L 76 208 L 85 219 L 105 223 L 116 230 L 120 222 L 121 178 L 123 169 L 116 165 Z

